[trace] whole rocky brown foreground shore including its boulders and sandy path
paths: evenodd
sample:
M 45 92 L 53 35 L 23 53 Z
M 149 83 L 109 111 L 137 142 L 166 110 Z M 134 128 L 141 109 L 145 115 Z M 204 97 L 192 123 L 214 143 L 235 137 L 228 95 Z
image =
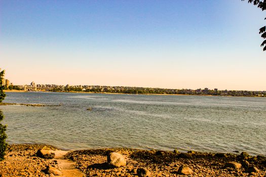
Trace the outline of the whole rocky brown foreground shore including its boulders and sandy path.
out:
M 45 158 L 41 152 L 51 154 Z M 0 162 L 0 176 L 266 175 L 266 157 L 245 152 L 180 153 L 125 148 L 66 152 L 49 145 L 10 145 L 5 157 Z

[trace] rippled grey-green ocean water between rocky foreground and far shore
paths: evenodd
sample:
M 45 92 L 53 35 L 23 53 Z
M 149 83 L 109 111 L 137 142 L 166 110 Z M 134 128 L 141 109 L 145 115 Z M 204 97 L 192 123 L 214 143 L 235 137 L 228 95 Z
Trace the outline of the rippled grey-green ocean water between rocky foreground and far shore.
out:
M 266 154 L 266 98 L 7 93 L 10 144 Z M 87 110 L 92 108 L 92 110 Z

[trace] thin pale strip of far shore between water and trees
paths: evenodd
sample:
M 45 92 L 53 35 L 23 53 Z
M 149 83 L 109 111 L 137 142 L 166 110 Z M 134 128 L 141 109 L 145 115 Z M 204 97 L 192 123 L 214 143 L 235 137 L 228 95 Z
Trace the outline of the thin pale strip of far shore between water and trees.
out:
M 110 95 L 174 95 L 174 96 L 207 96 L 207 97 L 260 97 L 260 96 L 231 96 L 231 95 L 189 95 L 189 94 L 130 94 L 130 93 L 110 93 L 110 92 L 52 92 L 52 91 L 19 91 L 19 90 L 4 90 L 4 92 L 44 92 L 44 93 L 76 93 L 76 94 L 110 94 Z M 262 97 L 263 98 L 263 97 Z

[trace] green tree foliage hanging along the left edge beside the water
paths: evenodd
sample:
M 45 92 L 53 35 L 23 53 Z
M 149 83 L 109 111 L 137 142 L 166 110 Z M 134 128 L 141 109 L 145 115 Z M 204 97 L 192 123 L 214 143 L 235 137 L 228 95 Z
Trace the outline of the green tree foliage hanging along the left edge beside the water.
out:
M 5 99 L 6 94 L 4 92 L 4 85 L 2 85 L 2 79 L 4 77 L 5 71 L 0 71 L 0 103 Z M 0 110 L 0 122 L 4 119 L 4 114 Z M 7 126 L 0 123 L 0 161 L 4 160 L 5 151 L 7 149 L 7 134 L 6 134 Z

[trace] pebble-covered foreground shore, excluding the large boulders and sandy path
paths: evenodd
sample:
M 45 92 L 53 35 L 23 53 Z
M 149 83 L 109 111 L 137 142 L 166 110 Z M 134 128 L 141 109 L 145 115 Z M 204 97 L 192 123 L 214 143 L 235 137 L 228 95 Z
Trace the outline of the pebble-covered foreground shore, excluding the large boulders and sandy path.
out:
M 3 176 L 43 176 L 47 165 L 60 166 L 57 159 L 42 159 L 35 154 L 37 150 L 47 146 L 58 150 L 54 146 L 40 144 L 9 145 L 4 161 L 0 161 L 0 174 Z M 60 151 L 60 150 L 59 150 Z M 107 155 L 110 152 L 122 154 L 127 164 L 122 167 L 106 166 Z M 191 168 L 190 176 L 249 176 L 249 167 L 256 167 L 255 174 L 264 176 L 266 157 L 250 156 L 247 153 L 202 153 L 188 151 L 139 150 L 129 148 L 103 148 L 69 151 L 65 158 L 75 164 L 75 169 L 86 176 L 137 176 L 138 168 L 150 171 L 151 176 L 180 176 L 178 168 L 186 165 Z M 228 162 L 242 164 L 241 167 L 226 167 Z M 247 166 L 245 166 L 245 164 Z M 249 167 L 248 167 L 249 166 Z M 252 168 L 253 169 L 253 168 Z M 63 169 L 62 169 L 63 171 Z M 29 173 L 31 175 L 29 175 Z

